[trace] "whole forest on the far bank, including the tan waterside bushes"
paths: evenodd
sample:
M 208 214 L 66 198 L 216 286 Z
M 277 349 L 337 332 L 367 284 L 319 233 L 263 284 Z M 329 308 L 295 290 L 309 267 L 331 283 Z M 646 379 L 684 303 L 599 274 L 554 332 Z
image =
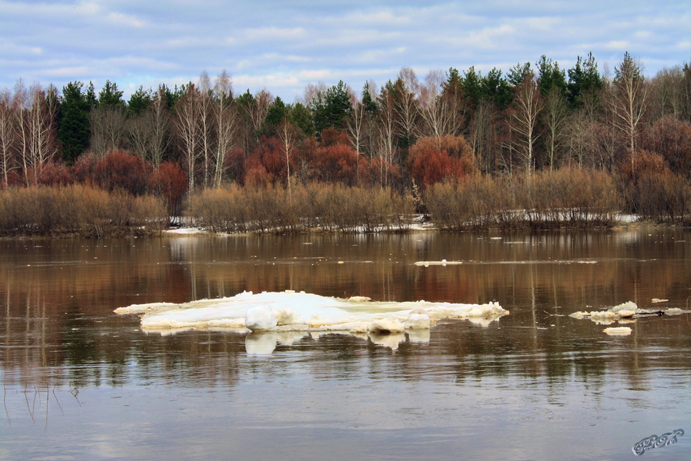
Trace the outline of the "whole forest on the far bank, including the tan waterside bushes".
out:
M 292 103 L 231 77 L 0 91 L 0 234 L 608 227 L 691 222 L 691 69 L 629 53 L 402 68 L 310 84 Z M 189 221 L 188 221 L 189 222 Z

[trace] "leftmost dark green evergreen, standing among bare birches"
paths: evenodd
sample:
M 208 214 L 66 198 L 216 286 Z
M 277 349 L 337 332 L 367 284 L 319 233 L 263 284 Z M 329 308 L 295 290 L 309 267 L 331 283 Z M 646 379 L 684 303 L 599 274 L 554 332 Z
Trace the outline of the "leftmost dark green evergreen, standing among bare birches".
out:
M 70 82 L 62 88 L 60 101 L 61 122 L 57 139 L 62 147 L 62 158 L 73 164 L 86 150 L 89 142 L 88 91 L 82 93 L 82 82 Z M 90 87 L 93 89 L 93 86 Z

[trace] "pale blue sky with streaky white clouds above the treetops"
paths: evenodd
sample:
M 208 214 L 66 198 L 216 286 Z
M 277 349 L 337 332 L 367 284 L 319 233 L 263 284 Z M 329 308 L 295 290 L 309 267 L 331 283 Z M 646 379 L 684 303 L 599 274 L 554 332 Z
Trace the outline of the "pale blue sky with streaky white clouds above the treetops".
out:
M 691 1 L 5 1 L 0 88 L 110 79 L 129 96 L 213 78 L 292 101 L 307 84 L 360 89 L 401 69 L 504 72 L 541 55 L 570 68 L 625 51 L 653 76 L 691 59 Z

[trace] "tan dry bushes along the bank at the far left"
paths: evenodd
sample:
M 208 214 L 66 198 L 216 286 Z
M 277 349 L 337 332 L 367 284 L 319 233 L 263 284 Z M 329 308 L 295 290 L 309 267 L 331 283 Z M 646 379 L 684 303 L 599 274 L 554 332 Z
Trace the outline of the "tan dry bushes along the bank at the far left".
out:
M 0 191 L 0 235 L 100 238 L 160 232 L 165 205 L 151 196 L 84 185 L 10 187 Z

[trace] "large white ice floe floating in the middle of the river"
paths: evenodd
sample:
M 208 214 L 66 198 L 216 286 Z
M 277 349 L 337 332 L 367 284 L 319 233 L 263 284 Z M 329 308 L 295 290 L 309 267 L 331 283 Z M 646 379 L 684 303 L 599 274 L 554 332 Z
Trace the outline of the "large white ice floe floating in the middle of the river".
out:
M 251 332 L 245 345 L 247 352 L 254 354 L 270 353 L 276 342 L 329 332 L 369 337 L 375 344 L 395 349 L 406 336 L 410 342 L 428 342 L 430 326 L 441 319 L 468 319 L 487 326 L 509 314 L 498 303 L 382 302 L 292 290 L 242 292 L 182 304 L 135 304 L 115 312 L 140 314 L 142 330 L 162 335 L 190 329 Z

